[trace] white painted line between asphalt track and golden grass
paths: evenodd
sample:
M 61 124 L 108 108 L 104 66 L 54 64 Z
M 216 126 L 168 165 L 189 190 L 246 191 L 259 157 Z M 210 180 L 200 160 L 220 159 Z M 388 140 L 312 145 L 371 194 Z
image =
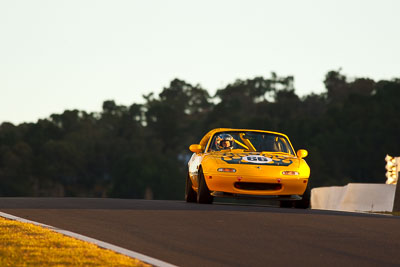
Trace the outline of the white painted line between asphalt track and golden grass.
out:
M 48 228 L 48 229 L 50 229 L 52 231 L 55 231 L 57 233 L 60 233 L 60 234 L 66 235 L 66 236 L 70 236 L 70 237 L 74 237 L 74 238 L 82 240 L 82 241 L 86 241 L 86 242 L 90 242 L 90 243 L 96 244 L 97 246 L 99 246 L 101 248 L 113 250 L 113 251 L 115 251 L 117 253 L 126 255 L 126 256 L 131 257 L 131 258 L 135 258 L 135 259 L 141 260 L 143 262 L 146 262 L 146 263 L 154 265 L 154 266 L 177 267 L 176 265 L 167 263 L 165 261 L 157 260 L 155 258 L 143 255 L 141 253 L 138 253 L 138 252 L 135 252 L 135 251 L 132 251 L 132 250 L 121 248 L 121 247 L 112 245 L 110 243 L 103 242 L 103 241 L 100 241 L 100 240 L 97 240 L 97 239 L 94 239 L 94 238 L 91 238 L 91 237 L 87 237 L 87 236 L 84 236 L 84 235 L 80 235 L 80 234 L 77 234 L 77 233 L 74 233 L 74 232 L 70 232 L 70 231 L 67 231 L 67 230 L 59 229 L 59 228 L 51 226 L 51 225 L 47 225 L 47 224 L 43 224 L 43 223 L 39 223 L 39 222 L 35 222 L 35 221 L 30 221 L 30 220 L 27 220 L 27 219 L 24 219 L 24 218 L 20 218 L 20 217 L 17 217 L 17 216 L 8 214 L 8 213 L 4 213 L 4 212 L 0 212 L 0 216 L 4 217 L 4 218 L 7 218 L 7 219 L 10 219 L 10 220 L 14 220 L 14 221 L 19 221 L 19 222 L 24 222 L 24 223 L 31 223 L 31 224 L 35 224 L 35 225 L 38 225 L 38 226 L 41 226 L 41 227 L 45 227 L 45 228 Z

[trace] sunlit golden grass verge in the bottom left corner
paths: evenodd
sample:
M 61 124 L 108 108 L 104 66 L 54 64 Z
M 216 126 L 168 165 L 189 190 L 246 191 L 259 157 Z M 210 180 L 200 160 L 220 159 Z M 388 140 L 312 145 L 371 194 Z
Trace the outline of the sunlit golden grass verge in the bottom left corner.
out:
M 150 266 L 29 223 L 0 217 L 0 266 Z

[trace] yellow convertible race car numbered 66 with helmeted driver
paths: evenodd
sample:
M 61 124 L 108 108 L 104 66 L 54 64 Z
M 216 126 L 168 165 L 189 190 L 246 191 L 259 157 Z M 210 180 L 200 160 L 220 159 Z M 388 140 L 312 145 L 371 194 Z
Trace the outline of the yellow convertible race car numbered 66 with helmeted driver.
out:
M 209 131 L 188 162 L 185 200 L 211 204 L 214 197 L 269 198 L 281 207 L 307 208 L 307 150 L 294 152 L 277 132 L 218 128 Z

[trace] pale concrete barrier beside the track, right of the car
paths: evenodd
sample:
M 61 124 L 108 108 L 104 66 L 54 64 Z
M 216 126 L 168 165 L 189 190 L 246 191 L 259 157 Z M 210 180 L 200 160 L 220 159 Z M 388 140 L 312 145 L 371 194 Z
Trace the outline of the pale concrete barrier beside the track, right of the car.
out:
M 311 190 L 311 208 L 341 211 L 393 210 L 396 185 L 356 184 L 318 187 Z

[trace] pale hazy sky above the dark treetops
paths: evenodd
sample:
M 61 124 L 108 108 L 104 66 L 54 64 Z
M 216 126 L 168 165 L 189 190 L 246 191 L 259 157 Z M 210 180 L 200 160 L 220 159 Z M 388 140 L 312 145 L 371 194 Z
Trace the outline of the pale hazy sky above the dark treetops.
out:
M 400 77 L 400 1 L 0 0 L 0 122 L 104 100 L 143 102 L 174 78 L 214 94 L 237 78 Z

